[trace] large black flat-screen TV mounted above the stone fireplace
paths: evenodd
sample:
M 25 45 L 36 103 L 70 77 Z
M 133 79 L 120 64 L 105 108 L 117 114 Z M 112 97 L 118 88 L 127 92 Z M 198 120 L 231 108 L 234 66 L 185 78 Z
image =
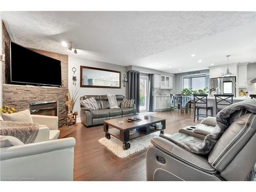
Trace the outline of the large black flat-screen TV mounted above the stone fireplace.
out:
M 60 60 L 11 42 L 11 83 L 60 87 Z

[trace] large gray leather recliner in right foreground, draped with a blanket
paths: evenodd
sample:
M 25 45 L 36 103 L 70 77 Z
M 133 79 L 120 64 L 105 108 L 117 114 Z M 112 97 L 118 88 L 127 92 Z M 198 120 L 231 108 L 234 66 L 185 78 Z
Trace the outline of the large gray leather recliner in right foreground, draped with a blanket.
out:
M 244 129 L 248 116 L 250 127 Z M 256 161 L 256 114 L 234 121 L 207 156 L 197 155 L 161 137 L 151 140 L 146 156 L 148 181 L 245 181 L 253 180 Z M 247 123 L 248 124 L 248 123 Z M 203 138 L 177 133 L 176 140 Z M 253 175 L 253 177 L 255 177 Z

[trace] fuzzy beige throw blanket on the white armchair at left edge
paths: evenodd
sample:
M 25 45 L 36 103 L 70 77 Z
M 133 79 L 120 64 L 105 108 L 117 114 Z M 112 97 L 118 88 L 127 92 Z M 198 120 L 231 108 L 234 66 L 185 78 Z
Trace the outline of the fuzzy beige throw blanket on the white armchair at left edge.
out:
M 33 143 L 38 131 L 37 123 L 0 121 L 0 135 L 16 137 L 24 144 Z

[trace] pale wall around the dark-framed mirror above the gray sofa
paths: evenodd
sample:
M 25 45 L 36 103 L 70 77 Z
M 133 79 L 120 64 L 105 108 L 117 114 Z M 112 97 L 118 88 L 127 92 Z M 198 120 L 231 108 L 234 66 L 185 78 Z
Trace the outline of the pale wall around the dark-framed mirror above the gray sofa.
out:
M 80 66 L 89 66 L 102 69 L 110 69 L 115 71 L 121 71 L 121 89 L 105 89 L 105 88 L 80 88 Z M 76 68 L 76 86 L 73 85 L 72 68 Z M 83 95 L 105 95 L 105 94 L 116 94 L 126 96 L 126 87 L 123 87 L 123 74 L 126 74 L 127 70 L 124 66 L 118 66 L 111 63 L 82 59 L 77 57 L 69 56 L 69 91 L 72 93 L 78 90 L 79 97 Z M 74 111 L 78 112 L 78 118 L 80 118 L 80 103 L 79 100 L 75 103 Z

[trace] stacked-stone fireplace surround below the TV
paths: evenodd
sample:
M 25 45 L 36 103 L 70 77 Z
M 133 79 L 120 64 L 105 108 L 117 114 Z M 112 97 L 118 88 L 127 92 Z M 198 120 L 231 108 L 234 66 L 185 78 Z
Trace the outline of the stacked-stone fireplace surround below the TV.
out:
M 54 108 L 56 108 L 57 116 L 59 118 L 58 127 L 61 127 L 67 124 L 68 109 L 65 105 L 65 102 L 67 101 L 67 93 L 67 88 L 4 84 L 3 105 L 13 106 L 18 112 L 31 109 L 31 103 L 35 103 L 35 105 L 32 104 L 32 110 L 42 108 L 40 112 L 38 111 L 38 115 L 39 113 L 45 113 L 47 108 L 49 108 L 47 112 L 48 115 L 52 115 L 55 113 Z

